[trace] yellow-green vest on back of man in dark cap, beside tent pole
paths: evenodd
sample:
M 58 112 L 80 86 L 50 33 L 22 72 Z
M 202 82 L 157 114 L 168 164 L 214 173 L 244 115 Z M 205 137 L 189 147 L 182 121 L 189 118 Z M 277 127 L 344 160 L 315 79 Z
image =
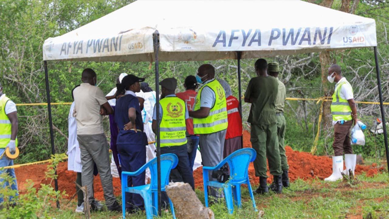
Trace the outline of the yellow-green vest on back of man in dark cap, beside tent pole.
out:
M 159 104 L 163 111 L 159 125 L 161 147 L 186 144 L 185 102 L 178 97 L 165 97 Z

